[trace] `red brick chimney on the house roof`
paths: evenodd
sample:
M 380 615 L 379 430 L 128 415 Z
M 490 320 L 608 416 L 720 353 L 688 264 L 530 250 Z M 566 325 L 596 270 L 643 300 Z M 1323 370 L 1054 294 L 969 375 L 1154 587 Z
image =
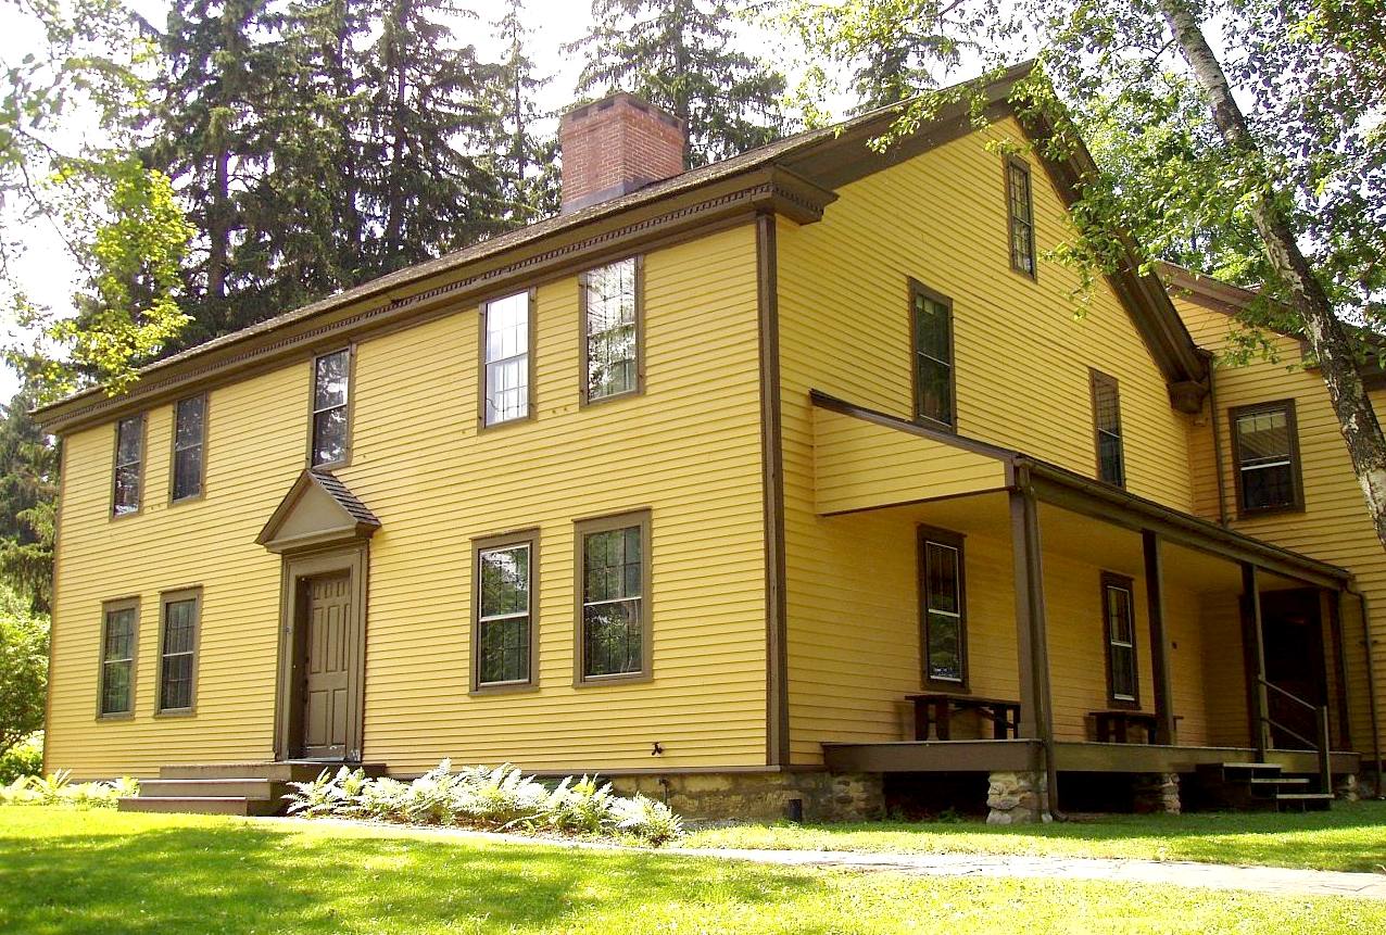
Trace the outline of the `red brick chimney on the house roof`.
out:
M 559 122 L 563 213 L 683 172 L 683 125 L 621 91 L 575 107 Z

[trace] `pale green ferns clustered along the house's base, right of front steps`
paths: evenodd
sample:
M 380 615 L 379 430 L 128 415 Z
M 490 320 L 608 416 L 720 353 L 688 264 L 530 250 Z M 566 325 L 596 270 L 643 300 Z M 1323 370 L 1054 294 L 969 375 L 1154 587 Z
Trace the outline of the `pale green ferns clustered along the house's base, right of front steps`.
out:
M 667 805 L 636 795 L 624 799 L 610 783 L 571 776 L 549 788 L 514 766 L 467 766 L 444 760 L 412 783 L 366 778 L 345 766 L 306 783 L 290 783 L 291 814 L 363 817 L 410 824 L 463 824 L 492 830 L 550 830 L 564 834 L 628 834 L 664 844 L 683 834 Z

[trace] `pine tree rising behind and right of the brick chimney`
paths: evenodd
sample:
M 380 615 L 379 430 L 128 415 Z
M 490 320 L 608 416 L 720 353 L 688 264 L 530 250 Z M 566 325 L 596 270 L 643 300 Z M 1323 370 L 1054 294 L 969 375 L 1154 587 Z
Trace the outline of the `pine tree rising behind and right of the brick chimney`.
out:
M 626 90 L 687 126 L 685 163 L 744 152 L 784 130 L 784 76 L 732 51 L 736 0 L 592 0 L 592 32 L 568 46 L 589 55 L 578 93 Z

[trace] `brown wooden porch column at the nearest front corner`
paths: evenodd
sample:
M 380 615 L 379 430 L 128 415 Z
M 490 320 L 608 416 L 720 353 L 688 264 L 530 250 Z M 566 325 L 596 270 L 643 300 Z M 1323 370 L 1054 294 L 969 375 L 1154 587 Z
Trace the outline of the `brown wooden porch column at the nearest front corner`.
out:
M 1020 666 L 1019 736 L 1048 744 L 1053 737 L 1053 711 L 1049 701 L 1044 569 L 1040 562 L 1040 511 L 1028 483 L 1010 492 L 1010 551 L 1016 575 L 1016 648 Z

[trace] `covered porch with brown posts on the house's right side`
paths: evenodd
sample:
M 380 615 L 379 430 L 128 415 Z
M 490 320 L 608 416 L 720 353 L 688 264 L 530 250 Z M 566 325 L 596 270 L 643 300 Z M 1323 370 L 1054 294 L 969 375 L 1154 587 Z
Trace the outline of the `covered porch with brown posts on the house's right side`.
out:
M 825 738 L 830 769 L 1021 777 L 1003 798 L 1037 816 L 1066 773 L 1166 798 L 1179 777 L 1245 778 L 1285 802 L 1356 774 L 1347 572 L 1019 452 L 814 404 L 819 515 L 913 529 L 900 546 L 919 564 L 898 736 Z

